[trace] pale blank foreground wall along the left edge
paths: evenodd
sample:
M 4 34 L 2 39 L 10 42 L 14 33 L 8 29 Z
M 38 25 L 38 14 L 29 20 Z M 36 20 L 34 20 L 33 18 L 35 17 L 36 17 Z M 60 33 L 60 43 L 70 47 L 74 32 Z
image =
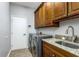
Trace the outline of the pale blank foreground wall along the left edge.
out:
M 0 57 L 5 57 L 11 47 L 9 3 L 0 2 Z

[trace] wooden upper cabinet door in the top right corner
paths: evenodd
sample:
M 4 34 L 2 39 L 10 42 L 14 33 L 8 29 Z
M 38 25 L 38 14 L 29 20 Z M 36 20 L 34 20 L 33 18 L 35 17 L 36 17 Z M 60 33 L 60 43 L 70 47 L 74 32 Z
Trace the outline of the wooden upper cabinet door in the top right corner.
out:
M 70 2 L 68 3 L 68 6 L 68 15 L 79 14 L 79 2 Z

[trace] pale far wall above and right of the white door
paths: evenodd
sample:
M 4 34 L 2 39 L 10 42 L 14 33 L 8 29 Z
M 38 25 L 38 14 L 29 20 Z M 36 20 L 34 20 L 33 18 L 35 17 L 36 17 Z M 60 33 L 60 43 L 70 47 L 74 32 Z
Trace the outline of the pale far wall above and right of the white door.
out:
M 27 29 L 28 34 L 29 33 L 35 33 L 35 29 L 34 29 L 34 10 L 33 9 L 11 3 L 11 17 L 20 17 L 20 18 L 22 17 L 22 18 L 27 19 L 27 25 L 31 25 L 31 27 L 30 28 L 28 27 L 28 29 Z M 27 43 L 28 42 L 26 42 L 26 44 Z

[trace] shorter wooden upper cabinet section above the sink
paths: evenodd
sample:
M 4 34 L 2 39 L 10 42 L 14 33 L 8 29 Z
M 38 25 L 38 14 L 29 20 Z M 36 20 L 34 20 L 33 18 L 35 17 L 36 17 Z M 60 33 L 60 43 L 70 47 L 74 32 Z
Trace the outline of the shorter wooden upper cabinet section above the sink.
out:
M 79 18 L 79 2 L 55 2 L 54 15 L 54 22 Z

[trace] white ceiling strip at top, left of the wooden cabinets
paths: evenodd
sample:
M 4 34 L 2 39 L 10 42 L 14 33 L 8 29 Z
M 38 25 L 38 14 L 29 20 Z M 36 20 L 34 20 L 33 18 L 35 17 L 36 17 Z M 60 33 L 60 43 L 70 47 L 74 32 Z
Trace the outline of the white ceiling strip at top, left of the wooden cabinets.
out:
M 29 7 L 32 9 L 37 9 L 37 7 L 41 4 L 41 2 L 12 2 L 14 4 L 18 4 L 24 7 Z

